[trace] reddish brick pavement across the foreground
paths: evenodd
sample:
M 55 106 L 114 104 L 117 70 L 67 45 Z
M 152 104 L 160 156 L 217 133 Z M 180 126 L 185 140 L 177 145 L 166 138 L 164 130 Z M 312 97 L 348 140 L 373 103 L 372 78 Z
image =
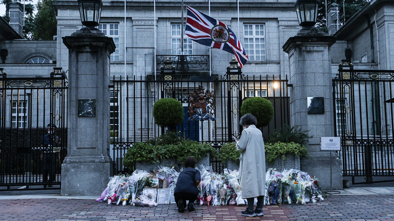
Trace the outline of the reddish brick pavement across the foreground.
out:
M 2 199 L 0 220 L 393 220 L 394 195 L 331 195 L 315 204 L 264 206 L 265 216 L 239 215 L 244 206 L 196 206 L 179 213 L 157 207 L 107 205 L 91 199 Z

